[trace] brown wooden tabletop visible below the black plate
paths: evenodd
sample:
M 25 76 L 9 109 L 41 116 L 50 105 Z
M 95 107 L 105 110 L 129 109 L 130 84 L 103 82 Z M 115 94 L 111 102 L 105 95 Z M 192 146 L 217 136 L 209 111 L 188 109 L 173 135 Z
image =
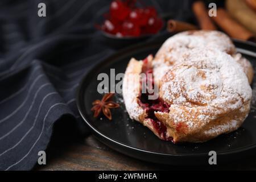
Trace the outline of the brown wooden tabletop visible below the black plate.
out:
M 61 142 L 60 142 L 61 141 Z M 46 166 L 37 170 L 179 170 L 179 169 L 256 169 L 254 159 L 243 160 L 225 166 L 177 167 L 153 164 L 125 156 L 99 142 L 92 135 L 81 138 L 60 137 L 47 150 Z

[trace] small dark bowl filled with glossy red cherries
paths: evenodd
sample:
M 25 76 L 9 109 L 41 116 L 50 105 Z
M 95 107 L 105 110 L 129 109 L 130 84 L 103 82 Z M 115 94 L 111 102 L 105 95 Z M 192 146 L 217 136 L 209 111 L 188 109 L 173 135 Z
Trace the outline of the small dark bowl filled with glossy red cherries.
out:
M 97 28 L 108 44 L 123 47 L 158 34 L 163 26 L 164 21 L 154 7 L 142 5 L 142 1 L 114 0 Z

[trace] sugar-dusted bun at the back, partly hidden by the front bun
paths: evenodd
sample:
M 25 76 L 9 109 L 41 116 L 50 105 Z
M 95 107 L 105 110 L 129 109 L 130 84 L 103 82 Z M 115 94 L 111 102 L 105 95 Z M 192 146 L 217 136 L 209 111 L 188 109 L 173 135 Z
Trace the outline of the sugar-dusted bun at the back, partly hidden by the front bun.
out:
M 241 54 L 236 53 L 236 47 L 226 34 L 220 31 L 208 30 L 185 31 L 167 39 L 156 53 L 154 59 L 156 79 L 161 80 L 166 70 L 171 69 L 172 65 L 181 61 L 180 56 L 184 52 L 194 48 L 213 48 L 232 55 L 243 67 L 249 82 L 252 82 L 254 72 L 250 61 L 243 58 Z

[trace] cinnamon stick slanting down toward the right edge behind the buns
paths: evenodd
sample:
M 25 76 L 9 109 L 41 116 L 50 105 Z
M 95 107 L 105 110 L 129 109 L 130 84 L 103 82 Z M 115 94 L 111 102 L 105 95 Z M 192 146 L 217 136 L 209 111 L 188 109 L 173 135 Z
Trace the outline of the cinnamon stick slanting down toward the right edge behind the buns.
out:
M 212 19 L 232 38 L 242 40 L 252 40 L 254 38 L 254 35 L 249 30 L 232 19 L 224 9 L 217 9 L 217 16 L 212 16 Z

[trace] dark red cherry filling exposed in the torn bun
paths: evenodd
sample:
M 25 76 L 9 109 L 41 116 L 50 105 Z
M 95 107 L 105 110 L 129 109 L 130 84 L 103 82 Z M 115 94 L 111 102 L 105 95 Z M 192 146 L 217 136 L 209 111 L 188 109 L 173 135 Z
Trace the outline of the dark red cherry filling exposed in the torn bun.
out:
M 146 79 L 141 80 L 141 85 L 142 84 L 146 85 L 148 83 L 147 80 L 151 79 L 151 81 L 150 81 L 151 85 L 147 85 L 147 88 L 148 88 L 148 86 L 151 86 L 151 88 L 154 89 L 154 77 L 153 76 L 148 77 L 148 73 L 152 74 L 153 70 L 152 70 L 152 68 L 150 68 L 150 65 L 148 64 L 147 58 L 143 60 L 142 72 L 146 74 Z M 148 92 L 141 93 L 141 95 L 139 96 L 138 104 L 144 110 L 146 110 L 147 119 L 150 119 L 150 121 L 152 123 L 152 126 L 158 132 L 159 136 L 163 140 L 173 141 L 172 137 L 167 137 L 167 128 L 166 128 L 166 126 L 164 126 L 164 124 L 162 122 L 160 122 L 158 118 L 155 117 L 155 111 L 168 113 L 170 105 L 168 105 L 166 102 L 160 100 L 159 97 L 156 98 L 155 100 L 149 100 L 148 96 L 153 95 L 153 94 L 154 93 L 148 93 Z

